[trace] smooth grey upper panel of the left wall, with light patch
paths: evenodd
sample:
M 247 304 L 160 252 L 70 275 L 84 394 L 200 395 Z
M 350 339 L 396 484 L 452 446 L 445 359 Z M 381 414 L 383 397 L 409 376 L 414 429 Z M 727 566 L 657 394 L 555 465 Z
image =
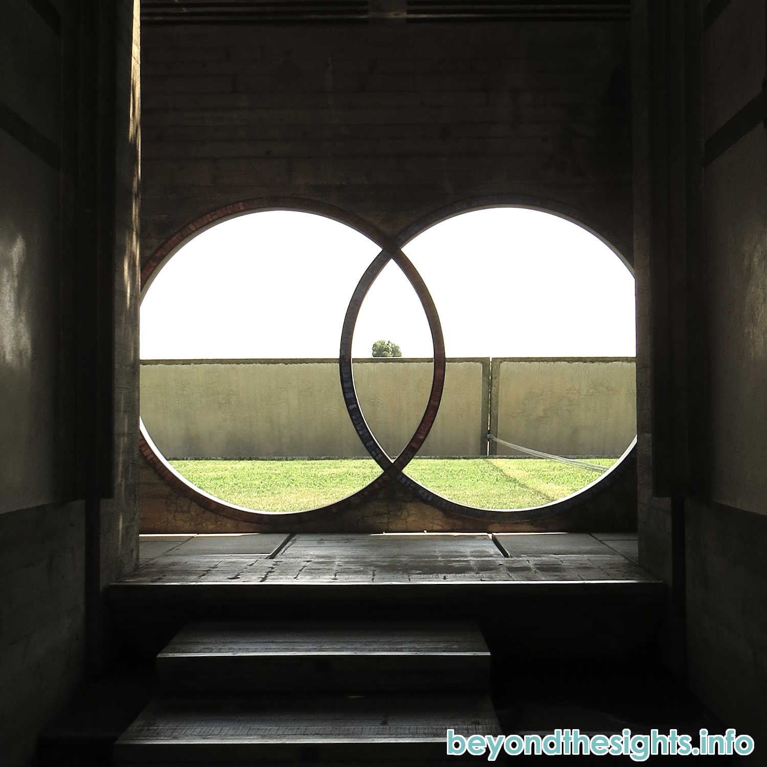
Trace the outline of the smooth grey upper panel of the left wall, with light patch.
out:
M 0 131 L 0 512 L 53 502 L 61 492 L 60 44 L 31 5 L 10 4 L 0 31 L 0 61 L 4 72 L 17 77 L 0 78 L 0 99 L 38 132 L 44 149 L 35 152 Z

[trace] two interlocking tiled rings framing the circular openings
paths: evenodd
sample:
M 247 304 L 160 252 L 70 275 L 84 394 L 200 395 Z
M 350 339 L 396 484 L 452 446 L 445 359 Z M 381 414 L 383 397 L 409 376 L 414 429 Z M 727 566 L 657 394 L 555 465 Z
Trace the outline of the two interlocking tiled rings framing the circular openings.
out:
M 384 267 L 390 261 L 395 261 L 403 268 L 407 276 L 410 278 L 413 275 L 408 274 L 407 266 L 410 264 L 409 259 L 402 252 L 402 249 L 407 245 L 410 240 L 414 239 L 416 235 L 421 232 L 425 232 L 427 229 L 431 229 L 433 226 L 440 222 L 451 219 L 454 216 L 459 216 L 466 212 L 475 210 L 489 209 L 489 208 L 525 208 L 531 210 L 537 210 L 539 212 L 548 213 L 553 216 L 558 216 L 561 219 L 568 220 L 574 225 L 579 226 L 581 229 L 585 229 L 592 235 L 597 237 L 604 245 L 607 245 L 609 249 L 621 259 L 621 262 L 629 269 L 632 275 L 634 275 L 634 268 L 631 262 L 623 255 L 623 252 L 630 252 L 628 249 L 619 249 L 616 243 L 616 239 L 611 236 L 603 235 L 594 226 L 584 221 L 584 216 L 581 212 L 572 209 L 570 206 L 564 206 L 554 200 L 547 200 L 532 196 L 518 196 L 518 195 L 495 195 L 484 196 L 479 198 L 473 198 L 460 202 L 453 202 L 448 206 L 440 207 L 426 216 L 417 219 L 410 225 L 408 225 L 399 235 L 394 238 L 387 236 L 384 232 L 377 228 L 374 224 L 367 222 L 366 220 L 356 216 L 351 212 L 347 212 L 344 209 L 332 206 L 327 203 L 318 202 L 315 200 L 298 199 L 292 197 L 276 197 L 276 198 L 257 198 L 242 200 L 240 202 L 234 202 L 230 205 L 223 206 L 215 209 L 211 212 L 199 216 L 193 222 L 189 222 L 181 229 L 177 230 L 169 239 L 163 242 L 155 252 L 150 256 L 146 263 L 141 268 L 141 280 L 140 280 L 140 301 L 143 301 L 146 291 L 150 288 L 156 275 L 160 273 L 163 266 L 166 265 L 170 258 L 176 255 L 186 245 L 187 242 L 194 239 L 200 233 L 206 231 L 206 229 L 212 228 L 212 226 L 218 225 L 229 219 L 238 218 L 239 216 L 245 216 L 249 213 L 266 212 L 266 211 L 295 211 L 311 213 L 318 216 L 324 216 L 328 219 L 332 219 L 344 225 L 350 226 L 352 229 L 357 230 L 360 234 L 365 235 L 368 239 L 379 245 L 381 252 L 371 263 L 371 267 L 375 262 L 381 262 L 375 271 L 374 276 L 368 279 L 368 285 L 362 291 L 362 297 L 359 298 L 357 294 L 360 292 L 360 285 L 363 285 L 366 281 L 370 267 L 366 270 L 365 276 L 360 280 L 360 285 L 354 291 L 354 295 L 351 298 L 349 308 L 347 309 L 347 321 L 344 321 L 344 331 L 341 337 L 341 354 L 339 358 L 339 367 L 341 369 L 342 387 L 344 387 L 344 393 L 350 393 L 348 387 L 351 385 L 351 393 L 354 392 L 354 376 L 351 370 L 351 336 L 354 334 L 354 324 L 356 322 L 357 311 L 359 311 L 359 305 L 364 299 L 364 293 L 367 292 L 367 288 L 372 285 L 380 269 Z M 387 258 L 382 256 L 387 255 Z M 401 258 L 400 258 L 401 257 Z M 420 275 L 417 274 L 413 268 L 413 272 L 416 276 L 416 282 L 420 281 Z M 429 295 L 426 285 L 423 281 L 420 281 L 420 285 L 413 285 L 416 289 L 416 294 L 424 304 L 424 310 L 427 317 L 430 315 L 429 304 L 433 307 L 433 302 Z M 351 324 L 348 314 L 351 312 L 353 304 L 357 301 L 356 311 L 354 311 L 354 317 L 351 318 Z M 426 301 L 426 302 L 424 302 Z M 433 309 L 436 315 L 436 309 Z M 146 459 L 147 463 L 152 467 L 161 479 L 163 479 L 169 486 L 171 486 L 180 495 L 183 495 L 187 499 L 195 502 L 197 505 L 206 509 L 209 512 L 213 512 L 217 515 L 222 515 L 229 519 L 234 519 L 240 522 L 261 523 L 272 522 L 275 519 L 279 519 L 283 522 L 290 520 L 306 521 L 312 516 L 328 515 L 328 512 L 332 515 L 334 512 L 342 512 L 347 509 L 351 509 L 357 505 L 360 505 L 366 501 L 372 500 L 380 495 L 380 492 L 385 486 L 390 485 L 391 482 L 396 482 L 397 485 L 403 487 L 410 495 L 413 496 L 413 501 L 421 501 L 440 512 L 443 512 L 447 517 L 457 517 L 463 519 L 472 519 L 478 522 L 487 522 L 488 524 L 497 524 L 499 522 L 535 522 L 536 520 L 543 519 L 553 515 L 561 515 L 563 512 L 568 512 L 571 509 L 576 509 L 583 505 L 585 502 L 594 499 L 596 495 L 601 492 L 606 492 L 618 478 L 624 475 L 625 472 L 631 469 L 632 466 L 636 466 L 636 445 L 637 437 L 627 446 L 624 453 L 620 458 L 609 468 L 606 472 L 594 479 L 588 485 L 581 489 L 571 493 L 571 495 L 565 496 L 565 498 L 551 501 L 546 504 L 525 507 L 523 509 L 482 509 L 476 506 L 464 505 L 455 501 L 446 499 L 442 495 L 431 491 L 430 489 L 420 485 L 420 483 L 411 479 L 409 476 L 403 473 L 403 469 L 407 466 L 410 459 L 412 459 L 420 446 L 423 444 L 424 439 L 430 429 L 431 423 L 433 423 L 434 417 L 436 417 L 436 411 L 439 409 L 439 400 L 441 399 L 442 384 L 438 381 L 439 370 L 437 365 L 438 357 L 444 365 L 445 351 L 442 339 L 441 328 L 439 327 L 439 317 L 436 316 L 436 328 L 433 324 L 432 318 L 430 318 L 430 328 L 433 334 L 434 341 L 434 379 L 433 386 L 427 403 L 426 410 L 424 411 L 423 418 L 421 420 L 419 429 L 413 435 L 413 439 L 410 440 L 408 446 L 403 449 L 400 456 L 397 456 L 393 460 L 389 460 L 383 450 L 380 450 L 377 441 L 375 440 L 370 430 L 367 429 L 367 424 L 364 422 L 364 416 L 361 414 L 359 404 L 357 403 L 356 394 L 354 395 L 353 404 L 356 405 L 359 410 L 359 418 L 357 423 L 352 416 L 351 409 L 350 417 L 357 430 L 358 436 L 369 449 L 367 442 L 372 440 L 374 446 L 380 450 L 378 456 L 370 453 L 374 459 L 377 460 L 379 466 L 383 469 L 382 473 L 377 476 L 372 482 L 358 490 L 357 492 L 347 495 L 346 498 L 339 501 L 332 502 L 327 505 L 319 506 L 314 509 L 305 509 L 295 512 L 273 512 L 263 509 L 248 509 L 244 506 L 235 505 L 229 502 L 225 502 L 222 499 L 216 498 L 213 495 L 205 492 L 204 490 L 194 486 L 189 482 L 186 477 L 181 475 L 173 466 L 167 461 L 167 459 L 160 453 L 156 445 L 144 426 L 143 420 L 140 418 L 140 452 Z M 436 330 L 436 333 L 435 333 Z M 344 348 L 347 350 L 347 360 L 344 366 Z M 344 377 L 347 380 L 344 380 Z M 438 390 L 438 391 L 437 391 Z M 348 399 L 348 398 L 347 398 Z M 347 409 L 349 409 L 349 402 L 347 401 Z M 427 422 L 427 423 L 426 423 Z M 426 430 L 424 433 L 423 426 L 426 423 Z M 364 436 L 367 435 L 367 436 Z M 416 436 L 418 436 L 417 444 Z M 380 459 L 380 454 L 383 454 L 388 462 L 388 466 L 383 466 Z M 403 456 L 407 456 L 407 459 L 400 460 Z M 332 516 L 328 516 L 331 519 Z

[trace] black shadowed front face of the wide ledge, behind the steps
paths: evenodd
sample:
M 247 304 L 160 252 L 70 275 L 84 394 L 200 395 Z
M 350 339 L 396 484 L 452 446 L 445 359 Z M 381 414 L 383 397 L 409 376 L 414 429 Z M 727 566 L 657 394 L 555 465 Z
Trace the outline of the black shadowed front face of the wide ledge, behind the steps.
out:
M 126 657 L 153 662 L 190 621 L 451 621 L 470 616 L 492 656 L 615 660 L 655 647 L 663 583 L 574 578 L 561 558 L 538 581 L 257 584 L 113 584 L 107 591 L 115 642 Z M 511 558 L 505 560 L 513 562 Z M 630 564 L 630 563 L 629 563 Z M 558 579 L 558 580 L 557 580 Z M 412 579 L 415 581 L 415 578 Z

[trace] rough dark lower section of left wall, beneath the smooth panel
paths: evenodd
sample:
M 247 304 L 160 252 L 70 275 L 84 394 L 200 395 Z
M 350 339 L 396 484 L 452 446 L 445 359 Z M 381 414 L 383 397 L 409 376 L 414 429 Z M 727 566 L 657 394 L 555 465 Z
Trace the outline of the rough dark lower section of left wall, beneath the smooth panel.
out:
M 81 502 L 0 514 L 0 752 L 26 765 L 84 670 Z

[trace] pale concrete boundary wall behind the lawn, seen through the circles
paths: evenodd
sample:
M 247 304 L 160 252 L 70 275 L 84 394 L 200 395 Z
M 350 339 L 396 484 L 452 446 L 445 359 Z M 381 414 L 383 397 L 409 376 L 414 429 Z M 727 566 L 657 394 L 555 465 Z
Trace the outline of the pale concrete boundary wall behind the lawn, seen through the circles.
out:
M 491 377 L 492 364 L 492 377 Z M 395 456 L 420 422 L 431 360 L 355 360 L 367 423 Z M 491 393 L 492 380 L 492 393 Z M 619 456 L 636 433 L 632 358 L 450 358 L 422 456 L 483 456 L 502 439 L 567 456 Z M 141 415 L 166 458 L 367 457 L 334 359 L 145 360 Z M 513 451 L 492 445 L 490 453 Z

